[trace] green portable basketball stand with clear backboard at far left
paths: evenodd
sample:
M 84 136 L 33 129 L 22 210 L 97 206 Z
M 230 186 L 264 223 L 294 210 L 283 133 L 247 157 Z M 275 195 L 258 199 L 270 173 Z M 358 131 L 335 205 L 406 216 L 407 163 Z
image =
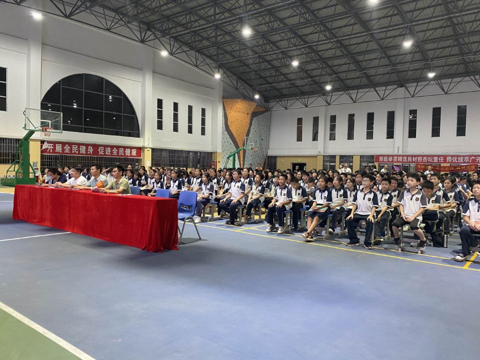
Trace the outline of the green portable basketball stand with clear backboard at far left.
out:
M 51 132 L 62 132 L 61 112 L 25 108 L 23 115 L 23 129 L 27 133 L 16 146 L 15 159 L 6 170 L 6 177 L 1 178 L 2 185 L 34 184 L 37 180 L 35 169 L 30 163 L 30 137 L 38 131 L 43 132 L 44 136 L 50 136 Z M 35 115 L 36 118 L 33 118 Z

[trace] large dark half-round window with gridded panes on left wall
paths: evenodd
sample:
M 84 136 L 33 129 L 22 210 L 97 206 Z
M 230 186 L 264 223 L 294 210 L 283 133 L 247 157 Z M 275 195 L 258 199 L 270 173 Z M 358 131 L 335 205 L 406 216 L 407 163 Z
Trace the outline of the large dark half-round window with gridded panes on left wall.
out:
M 62 78 L 49 88 L 40 107 L 61 111 L 64 131 L 140 137 L 130 100 L 100 76 L 82 73 Z

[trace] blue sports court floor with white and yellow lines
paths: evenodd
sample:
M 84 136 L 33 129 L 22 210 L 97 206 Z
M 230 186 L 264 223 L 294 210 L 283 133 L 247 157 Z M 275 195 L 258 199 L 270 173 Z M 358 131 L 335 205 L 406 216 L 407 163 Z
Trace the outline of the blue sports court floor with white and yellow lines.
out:
M 457 237 L 418 255 L 216 221 L 149 253 L 14 221 L 12 198 L 0 301 L 95 359 L 478 357 L 480 263 L 451 260 Z

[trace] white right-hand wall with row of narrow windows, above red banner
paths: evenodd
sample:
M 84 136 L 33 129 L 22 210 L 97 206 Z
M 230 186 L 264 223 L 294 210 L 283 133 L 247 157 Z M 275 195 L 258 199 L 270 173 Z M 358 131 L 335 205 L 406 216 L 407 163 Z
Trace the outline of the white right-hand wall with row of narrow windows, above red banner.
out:
M 459 80 L 459 79 L 458 79 Z M 457 80 L 452 82 L 452 85 Z M 450 80 L 444 80 L 444 84 Z M 421 87 L 421 86 L 420 86 Z M 445 86 L 447 87 L 447 86 Z M 455 93 L 455 91 L 457 93 Z M 454 87 L 453 93 L 438 94 L 434 83 L 427 84 L 418 97 L 403 88 L 388 99 L 325 105 L 318 100 L 313 107 L 274 108 L 271 112 L 269 155 L 316 154 L 394 154 L 480 153 L 476 135 L 480 132 L 480 88 L 468 79 Z M 466 136 L 456 136 L 458 105 L 467 105 Z M 433 107 L 441 107 L 440 137 L 431 137 Z M 408 111 L 417 109 L 417 137 L 408 138 Z M 386 138 L 387 111 L 395 111 L 394 138 Z M 366 114 L 374 112 L 373 139 L 366 139 Z M 347 140 L 347 118 L 355 114 L 354 139 Z M 336 115 L 336 138 L 328 140 L 330 115 Z M 319 116 L 319 141 L 311 141 L 312 117 Z M 303 141 L 296 141 L 296 118 L 303 117 Z M 322 136 L 323 135 L 323 136 Z

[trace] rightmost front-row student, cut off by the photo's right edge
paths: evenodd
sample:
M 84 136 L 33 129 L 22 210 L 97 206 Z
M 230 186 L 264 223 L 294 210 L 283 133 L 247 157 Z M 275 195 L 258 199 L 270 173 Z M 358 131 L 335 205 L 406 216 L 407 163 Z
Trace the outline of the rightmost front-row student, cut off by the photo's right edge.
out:
M 455 261 L 465 261 L 470 254 L 470 247 L 479 247 L 478 237 L 471 234 L 480 234 L 480 182 L 471 184 L 473 197 L 463 205 L 462 215 L 465 225 L 460 228 L 461 252 L 454 257 Z

